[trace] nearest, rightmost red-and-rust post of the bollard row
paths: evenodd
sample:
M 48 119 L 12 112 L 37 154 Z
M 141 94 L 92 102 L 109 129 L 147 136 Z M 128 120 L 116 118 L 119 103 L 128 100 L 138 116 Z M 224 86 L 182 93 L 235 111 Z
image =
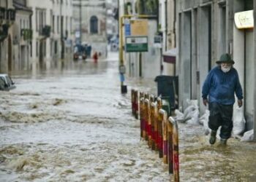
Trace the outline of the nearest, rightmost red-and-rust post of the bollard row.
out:
M 174 181 L 179 181 L 179 162 L 178 162 L 178 124 L 173 119 L 173 177 Z

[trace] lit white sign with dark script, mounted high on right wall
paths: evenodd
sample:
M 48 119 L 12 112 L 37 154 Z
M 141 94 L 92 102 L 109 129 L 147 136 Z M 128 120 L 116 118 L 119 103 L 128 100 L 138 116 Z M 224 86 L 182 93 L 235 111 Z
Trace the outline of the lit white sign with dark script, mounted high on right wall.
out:
M 253 28 L 254 20 L 253 20 L 253 10 L 249 10 L 246 12 L 236 12 L 235 13 L 235 24 L 236 28 Z

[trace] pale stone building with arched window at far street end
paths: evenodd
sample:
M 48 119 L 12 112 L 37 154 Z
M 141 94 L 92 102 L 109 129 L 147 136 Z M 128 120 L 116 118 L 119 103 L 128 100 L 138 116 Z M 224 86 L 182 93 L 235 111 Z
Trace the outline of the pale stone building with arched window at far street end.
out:
M 107 55 L 107 8 L 105 0 L 72 0 L 76 44 L 91 46 L 91 52 Z

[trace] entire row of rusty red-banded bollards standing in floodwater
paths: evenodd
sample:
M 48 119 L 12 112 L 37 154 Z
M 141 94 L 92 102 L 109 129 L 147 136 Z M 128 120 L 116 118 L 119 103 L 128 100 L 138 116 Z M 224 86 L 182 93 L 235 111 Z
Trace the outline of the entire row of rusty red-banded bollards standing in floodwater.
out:
M 158 151 L 174 181 L 179 181 L 178 124 L 162 109 L 162 99 L 140 92 L 138 100 L 138 90 L 132 89 L 132 114 L 136 119 L 140 116 L 140 138 Z

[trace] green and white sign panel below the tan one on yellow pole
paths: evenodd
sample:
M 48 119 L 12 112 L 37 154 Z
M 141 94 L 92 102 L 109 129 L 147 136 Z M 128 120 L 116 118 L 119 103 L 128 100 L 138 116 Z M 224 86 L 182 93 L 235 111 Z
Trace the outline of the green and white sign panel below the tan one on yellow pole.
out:
M 125 43 L 126 52 L 148 52 L 148 36 L 127 36 Z

